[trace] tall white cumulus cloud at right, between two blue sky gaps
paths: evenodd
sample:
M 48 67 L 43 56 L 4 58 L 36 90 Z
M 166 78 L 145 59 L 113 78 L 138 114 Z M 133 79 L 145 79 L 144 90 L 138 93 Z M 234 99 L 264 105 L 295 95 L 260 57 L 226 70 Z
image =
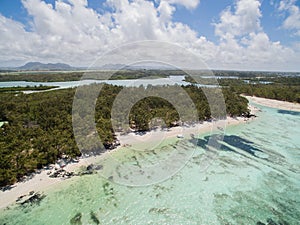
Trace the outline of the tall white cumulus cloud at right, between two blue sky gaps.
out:
M 220 21 L 215 25 L 215 34 L 220 37 L 220 64 L 240 68 L 260 68 L 280 70 L 282 65 L 291 68 L 296 65 L 296 55 L 292 49 L 284 47 L 279 41 L 271 41 L 261 27 L 258 0 L 239 0 L 234 10 L 225 9 Z

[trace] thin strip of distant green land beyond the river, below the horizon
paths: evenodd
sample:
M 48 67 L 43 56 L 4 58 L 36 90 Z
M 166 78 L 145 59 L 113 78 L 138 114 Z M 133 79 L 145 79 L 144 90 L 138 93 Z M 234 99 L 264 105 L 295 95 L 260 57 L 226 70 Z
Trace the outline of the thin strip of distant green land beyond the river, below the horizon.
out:
M 0 71 L 0 81 L 32 81 L 32 82 L 59 82 L 59 81 L 78 81 L 83 75 L 88 79 L 106 79 L 107 75 L 113 76 L 111 79 L 140 79 L 152 77 L 167 77 L 170 75 L 185 75 L 186 73 L 195 74 L 198 76 L 207 76 L 214 74 L 216 77 L 239 77 L 243 79 L 266 80 L 276 79 L 279 83 L 284 82 L 292 77 L 296 77 L 299 73 L 287 72 L 251 72 L 251 71 L 182 71 L 182 70 L 118 70 L 118 71 Z

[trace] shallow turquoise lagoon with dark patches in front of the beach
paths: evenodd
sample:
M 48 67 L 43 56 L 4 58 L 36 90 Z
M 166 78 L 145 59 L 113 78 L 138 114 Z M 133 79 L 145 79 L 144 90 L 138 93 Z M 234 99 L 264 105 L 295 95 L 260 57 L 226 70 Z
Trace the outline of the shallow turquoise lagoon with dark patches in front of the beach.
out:
M 155 157 L 174 146 L 197 145 L 170 179 L 128 187 L 99 174 L 73 177 L 50 187 L 38 204 L 2 210 L 0 224 L 299 224 L 300 113 L 259 107 L 257 119 L 226 129 L 205 171 L 201 157 L 211 134 L 199 135 L 197 142 L 170 139 Z M 153 159 L 124 152 L 115 157 Z

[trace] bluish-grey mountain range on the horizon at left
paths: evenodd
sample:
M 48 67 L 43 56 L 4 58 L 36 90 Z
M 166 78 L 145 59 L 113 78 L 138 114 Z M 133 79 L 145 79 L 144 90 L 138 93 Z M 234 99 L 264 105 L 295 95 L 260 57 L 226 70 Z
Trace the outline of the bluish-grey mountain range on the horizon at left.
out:
M 49 71 L 49 70 L 72 70 L 73 68 L 64 63 L 40 63 L 40 62 L 29 62 L 24 66 L 20 66 L 19 70 L 35 70 L 35 71 Z

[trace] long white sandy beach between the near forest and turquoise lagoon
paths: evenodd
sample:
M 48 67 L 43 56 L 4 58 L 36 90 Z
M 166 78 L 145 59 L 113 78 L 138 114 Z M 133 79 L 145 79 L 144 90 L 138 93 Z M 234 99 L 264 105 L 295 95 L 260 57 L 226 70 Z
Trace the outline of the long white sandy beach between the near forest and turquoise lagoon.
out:
M 251 113 L 255 114 L 258 109 L 255 107 L 251 107 Z M 203 122 L 202 124 L 196 124 L 194 126 L 182 126 L 182 127 L 173 127 L 171 129 L 166 130 L 156 130 L 150 131 L 143 135 L 138 135 L 135 133 L 130 133 L 127 135 L 117 134 L 117 137 L 121 143 L 121 146 L 103 153 L 102 155 L 96 157 L 89 157 L 80 159 L 78 163 L 71 163 L 64 167 L 64 169 L 68 172 L 76 172 L 82 166 L 88 166 L 93 162 L 98 161 L 102 157 L 107 156 L 107 154 L 111 154 L 113 151 L 118 151 L 120 148 L 125 146 L 144 146 L 151 145 L 151 143 L 159 143 L 162 140 L 167 138 L 176 138 L 178 135 L 183 136 L 184 138 L 190 138 L 192 134 L 199 135 L 201 133 L 210 132 L 213 130 L 223 131 L 227 126 L 238 125 L 242 123 L 246 123 L 252 119 L 245 119 L 244 117 L 232 118 L 228 117 L 226 120 L 219 120 L 213 122 Z M 155 148 L 155 146 L 153 146 Z M 49 172 L 50 169 L 42 170 L 41 173 L 35 174 L 33 178 L 24 181 L 18 182 L 14 184 L 12 189 L 6 191 L 0 191 L 0 209 L 5 208 L 12 203 L 15 203 L 18 197 L 22 195 L 26 195 L 28 197 L 29 192 L 43 192 L 47 190 L 49 187 L 53 187 L 53 185 L 63 182 L 63 178 L 50 178 Z M 70 178 L 72 179 L 72 178 Z

